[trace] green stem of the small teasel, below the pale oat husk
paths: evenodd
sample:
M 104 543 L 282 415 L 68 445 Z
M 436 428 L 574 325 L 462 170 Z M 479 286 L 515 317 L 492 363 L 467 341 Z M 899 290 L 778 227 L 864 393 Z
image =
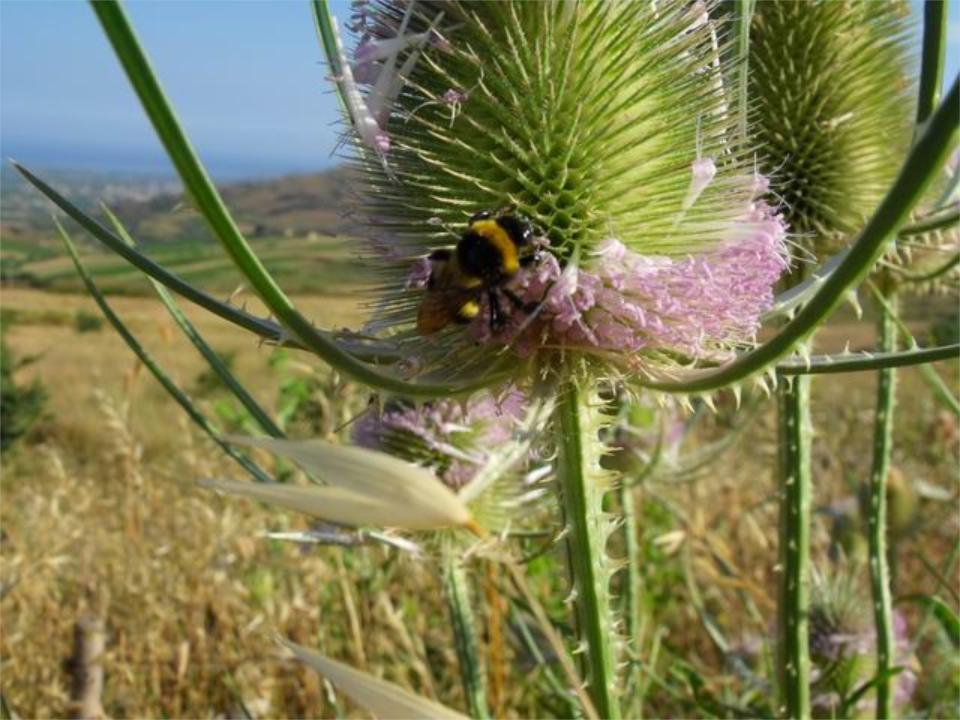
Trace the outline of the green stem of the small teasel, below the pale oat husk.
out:
M 453 625 L 453 640 L 460 663 L 460 682 L 467 698 L 470 716 L 489 718 L 480 647 L 477 642 L 477 624 L 470 602 L 470 582 L 467 570 L 453 547 L 443 550 L 443 590 Z

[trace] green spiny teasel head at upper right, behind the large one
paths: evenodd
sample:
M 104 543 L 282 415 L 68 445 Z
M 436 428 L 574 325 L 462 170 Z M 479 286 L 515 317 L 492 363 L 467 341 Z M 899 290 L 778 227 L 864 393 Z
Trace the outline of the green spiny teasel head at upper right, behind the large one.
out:
M 793 232 L 858 230 L 895 177 L 910 140 L 907 12 L 900 2 L 757 3 L 753 129 Z

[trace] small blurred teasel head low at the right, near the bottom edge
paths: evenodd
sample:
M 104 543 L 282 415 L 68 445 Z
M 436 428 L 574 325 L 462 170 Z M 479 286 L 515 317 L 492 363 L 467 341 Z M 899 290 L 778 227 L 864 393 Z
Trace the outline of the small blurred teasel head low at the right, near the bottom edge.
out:
M 811 695 L 818 717 L 835 717 L 843 701 L 875 672 L 875 634 L 870 614 L 863 612 L 870 607 L 870 598 L 861 569 L 856 563 L 841 563 L 814 573 L 809 627 Z M 917 676 L 906 619 L 899 611 L 894 612 L 893 624 L 894 663 L 904 668 L 894 680 L 894 701 L 903 707 L 910 701 Z M 854 710 L 869 704 L 869 700 L 861 700 Z

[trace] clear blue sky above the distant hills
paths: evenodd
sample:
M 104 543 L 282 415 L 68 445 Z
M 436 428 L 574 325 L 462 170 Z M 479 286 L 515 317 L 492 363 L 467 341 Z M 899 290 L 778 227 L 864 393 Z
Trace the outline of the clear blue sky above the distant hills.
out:
M 950 5 L 952 79 L 960 68 L 960 2 Z M 334 7 L 345 19 L 345 0 Z M 332 164 L 336 103 L 306 0 L 131 2 L 127 8 L 215 176 Z M 37 167 L 168 167 L 84 2 L 0 0 L 0 87 L 3 157 Z

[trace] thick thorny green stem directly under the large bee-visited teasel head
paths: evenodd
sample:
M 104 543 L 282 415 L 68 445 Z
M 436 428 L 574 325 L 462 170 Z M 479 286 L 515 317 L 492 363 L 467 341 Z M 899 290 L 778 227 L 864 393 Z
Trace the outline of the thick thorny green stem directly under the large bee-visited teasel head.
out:
M 569 372 L 569 371 L 567 371 Z M 562 380 L 557 402 L 557 479 L 567 523 L 567 553 L 587 691 L 602 718 L 619 718 L 614 661 L 612 568 L 606 554 L 609 523 L 600 470 L 599 400 L 575 380 Z

